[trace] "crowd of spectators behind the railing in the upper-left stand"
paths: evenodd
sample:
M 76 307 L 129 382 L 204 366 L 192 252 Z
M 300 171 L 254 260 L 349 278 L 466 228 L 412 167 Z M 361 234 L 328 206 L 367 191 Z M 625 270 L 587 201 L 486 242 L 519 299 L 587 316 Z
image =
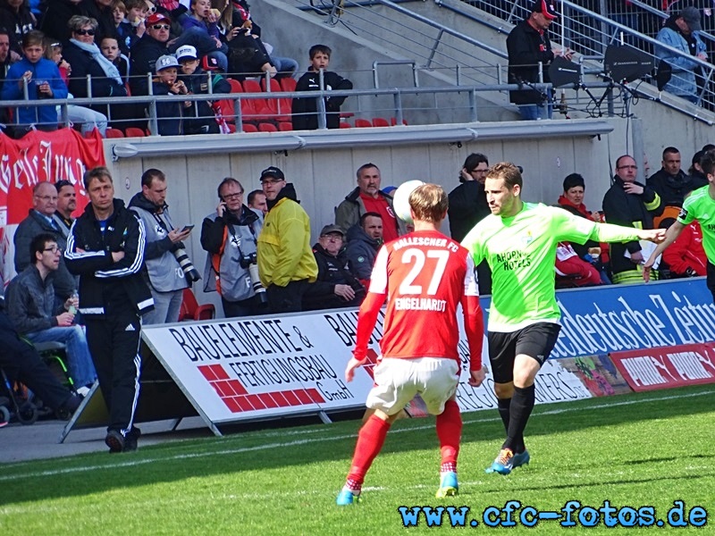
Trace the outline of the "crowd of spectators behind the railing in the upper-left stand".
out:
M 310 67 L 296 91 L 350 89 L 328 71 L 332 50 L 310 49 Z M 2 100 L 71 97 L 227 94 L 228 79 L 299 78 L 298 61 L 275 53 L 262 39 L 246 0 L 53 0 L 33 13 L 27 0 L 0 0 Z M 321 78 L 322 77 L 322 78 Z M 327 128 L 339 127 L 344 96 L 326 96 Z M 296 129 L 315 130 L 320 107 L 299 98 Z M 67 119 L 83 133 L 107 127 L 163 136 L 229 132 L 220 103 L 210 100 L 69 105 Z M 64 121 L 54 105 L 0 108 L 4 132 L 55 130 Z

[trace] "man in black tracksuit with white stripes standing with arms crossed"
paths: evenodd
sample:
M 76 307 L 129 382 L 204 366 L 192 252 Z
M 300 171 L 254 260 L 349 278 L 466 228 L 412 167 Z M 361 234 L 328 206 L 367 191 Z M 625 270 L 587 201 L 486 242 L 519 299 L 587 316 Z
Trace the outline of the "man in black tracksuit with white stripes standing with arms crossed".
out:
M 135 450 L 139 429 L 140 315 L 154 308 L 141 272 L 146 233 L 134 212 L 114 199 L 112 175 L 97 167 L 84 175 L 89 205 L 72 225 L 64 258 L 80 276 L 80 312 L 109 409 L 110 452 Z

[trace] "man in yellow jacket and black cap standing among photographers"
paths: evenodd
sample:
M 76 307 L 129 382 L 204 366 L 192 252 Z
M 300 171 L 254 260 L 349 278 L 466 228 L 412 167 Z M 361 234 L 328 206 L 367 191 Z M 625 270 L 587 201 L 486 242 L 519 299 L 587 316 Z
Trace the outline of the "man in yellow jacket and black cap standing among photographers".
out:
M 258 235 L 258 273 L 268 306 L 273 313 L 300 311 L 303 294 L 318 274 L 310 218 L 280 169 L 271 166 L 261 172 L 261 185 L 268 213 Z

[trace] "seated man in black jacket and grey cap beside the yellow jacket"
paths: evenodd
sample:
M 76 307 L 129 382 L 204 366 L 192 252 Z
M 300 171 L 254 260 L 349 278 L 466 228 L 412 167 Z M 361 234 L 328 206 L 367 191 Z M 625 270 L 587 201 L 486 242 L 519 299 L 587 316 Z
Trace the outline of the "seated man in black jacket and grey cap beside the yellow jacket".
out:
M 318 279 L 308 285 L 303 295 L 303 310 L 357 307 L 366 289 L 349 271 L 348 255 L 342 247 L 345 232 L 338 225 L 325 225 L 320 231 L 313 255 L 318 264 Z

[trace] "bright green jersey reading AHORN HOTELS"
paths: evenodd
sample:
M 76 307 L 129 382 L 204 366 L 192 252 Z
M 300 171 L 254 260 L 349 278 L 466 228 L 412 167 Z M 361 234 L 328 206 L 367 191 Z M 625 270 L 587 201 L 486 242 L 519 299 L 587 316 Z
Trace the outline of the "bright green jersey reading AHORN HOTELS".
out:
M 559 242 L 627 241 L 637 239 L 636 232 L 534 203 L 524 203 L 521 212 L 509 218 L 488 215 L 462 242 L 475 265 L 486 259 L 492 268 L 488 330 L 511 332 L 536 322 L 559 323 L 554 289 Z

